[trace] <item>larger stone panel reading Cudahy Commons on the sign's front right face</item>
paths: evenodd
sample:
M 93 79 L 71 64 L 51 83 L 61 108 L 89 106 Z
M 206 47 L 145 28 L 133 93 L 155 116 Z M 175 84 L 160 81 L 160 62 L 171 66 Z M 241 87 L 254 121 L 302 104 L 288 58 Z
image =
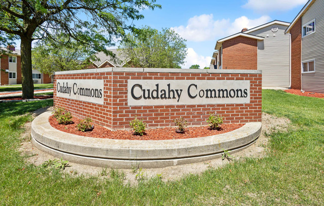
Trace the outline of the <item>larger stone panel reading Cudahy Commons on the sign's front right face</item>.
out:
M 128 80 L 129 106 L 250 103 L 248 80 Z

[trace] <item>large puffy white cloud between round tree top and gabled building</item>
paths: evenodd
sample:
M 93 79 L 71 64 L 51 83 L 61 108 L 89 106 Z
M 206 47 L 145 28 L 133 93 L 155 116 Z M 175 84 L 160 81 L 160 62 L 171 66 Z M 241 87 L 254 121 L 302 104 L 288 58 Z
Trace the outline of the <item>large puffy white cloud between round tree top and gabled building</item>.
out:
M 171 27 L 171 29 L 188 41 L 203 42 L 238 33 L 244 27 L 250 29 L 259 26 L 270 21 L 270 19 L 266 15 L 257 19 L 248 19 L 246 16 L 241 16 L 231 22 L 230 19 L 214 20 L 213 14 L 202 14 L 190 18 L 187 26 L 181 25 Z

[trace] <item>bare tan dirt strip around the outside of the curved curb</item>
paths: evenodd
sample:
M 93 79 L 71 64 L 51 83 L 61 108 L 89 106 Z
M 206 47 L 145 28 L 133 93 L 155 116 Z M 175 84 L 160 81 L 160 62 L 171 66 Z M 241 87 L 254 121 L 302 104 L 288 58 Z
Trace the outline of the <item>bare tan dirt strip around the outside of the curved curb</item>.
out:
M 49 110 L 50 108 L 43 108 L 35 111 L 33 116 L 37 116 L 40 113 Z M 262 113 L 262 135 L 256 140 L 250 147 L 232 154 L 236 159 L 243 157 L 262 157 L 265 154 L 265 148 L 267 147 L 268 138 L 264 135 L 264 132 L 270 133 L 274 130 L 285 130 L 290 121 L 286 118 L 278 118 L 269 114 Z M 20 151 L 22 155 L 26 156 L 26 160 L 35 165 L 41 165 L 48 159 L 58 159 L 50 154 L 44 153 L 38 150 L 30 143 L 30 131 L 31 123 L 25 124 L 25 133 L 22 135 L 22 143 Z M 162 177 L 163 181 L 166 180 L 177 180 L 186 174 L 199 174 L 208 168 L 217 168 L 229 163 L 228 160 L 222 160 L 216 158 L 210 161 L 197 162 L 192 164 L 169 166 L 164 168 L 150 168 L 141 169 L 134 166 L 133 169 L 118 169 L 120 172 L 125 174 L 125 183 L 136 185 L 139 179 L 145 179 L 150 177 Z M 109 171 L 111 168 L 94 167 L 88 165 L 82 165 L 74 162 L 69 162 L 70 167 L 66 167 L 65 172 L 74 174 L 85 174 L 85 175 L 98 175 L 103 178 L 109 177 Z

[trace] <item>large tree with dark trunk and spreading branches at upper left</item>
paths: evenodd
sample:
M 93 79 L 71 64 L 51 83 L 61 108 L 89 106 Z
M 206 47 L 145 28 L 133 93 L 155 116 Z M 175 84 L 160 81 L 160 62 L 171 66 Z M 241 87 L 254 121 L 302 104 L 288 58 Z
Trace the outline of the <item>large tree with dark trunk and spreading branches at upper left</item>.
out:
M 22 98 L 33 98 L 31 43 L 65 34 L 81 45 L 112 55 L 126 30 L 139 33 L 132 23 L 142 19 L 140 10 L 161 7 L 156 0 L 0 0 L 1 37 L 15 35 L 21 41 Z M 81 15 L 84 14 L 84 15 Z M 59 44 L 59 43 L 58 43 Z

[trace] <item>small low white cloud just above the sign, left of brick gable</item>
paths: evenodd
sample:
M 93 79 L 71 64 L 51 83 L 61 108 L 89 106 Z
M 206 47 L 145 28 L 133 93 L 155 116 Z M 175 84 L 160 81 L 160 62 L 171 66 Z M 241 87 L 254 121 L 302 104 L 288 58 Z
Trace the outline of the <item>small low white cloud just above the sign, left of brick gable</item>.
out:
M 212 60 L 211 56 L 202 56 L 196 53 L 192 48 L 188 48 L 187 50 L 188 54 L 185 59 L 184 65 L 182 65 L 182 68 L 188 69 L 193 64 L 198 64 L 201 69 L 203 69 L 205 66 L 210 65 L 210 61 Z

